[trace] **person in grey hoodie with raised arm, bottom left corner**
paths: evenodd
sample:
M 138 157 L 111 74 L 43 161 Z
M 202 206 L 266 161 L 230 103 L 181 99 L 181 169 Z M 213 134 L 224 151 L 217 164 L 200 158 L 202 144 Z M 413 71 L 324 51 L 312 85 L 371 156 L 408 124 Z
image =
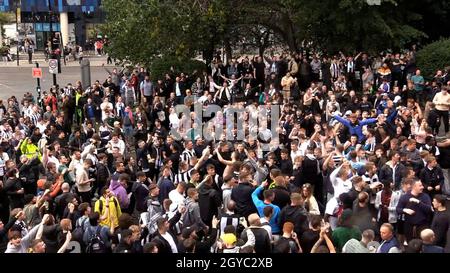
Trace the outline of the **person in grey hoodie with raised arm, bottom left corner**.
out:
M 28 248 L 36 238 L 38 231 L 42 233 L 43 224 L 47 222 L 49 216 L 49 214 L 45 214 L 44 217 L 42 217 L 41 223 L 32 228 L 25 236 L 22 236 L 20 231 L 11 230 L 8 234 L 9 242 L 5 253 L 27 253 Z

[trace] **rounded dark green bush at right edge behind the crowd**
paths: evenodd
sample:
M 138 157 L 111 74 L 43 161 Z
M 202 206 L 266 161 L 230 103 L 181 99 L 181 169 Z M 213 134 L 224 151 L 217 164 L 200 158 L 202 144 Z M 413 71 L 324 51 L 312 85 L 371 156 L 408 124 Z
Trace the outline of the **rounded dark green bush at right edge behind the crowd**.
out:
M 416 63 L 422 75 L 431 79 L 438 69 L 444 69 L 450 65 L 450 39 L 441 39 L 419 50 Z

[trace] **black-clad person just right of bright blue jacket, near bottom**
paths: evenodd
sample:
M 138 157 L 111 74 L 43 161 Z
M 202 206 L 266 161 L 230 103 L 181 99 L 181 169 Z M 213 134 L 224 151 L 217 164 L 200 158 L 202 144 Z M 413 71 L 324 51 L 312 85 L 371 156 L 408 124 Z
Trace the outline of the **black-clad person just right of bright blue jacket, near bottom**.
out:
M 286 222 L 294 224 L 294 231 L 299 238 L 303 235 L 303 232 L 308 230 L 308 212 L 303 207 L 303 200 L 300 193 L 291 194 L 291 204 L 284 207 L 280 212 L 280 226 Z

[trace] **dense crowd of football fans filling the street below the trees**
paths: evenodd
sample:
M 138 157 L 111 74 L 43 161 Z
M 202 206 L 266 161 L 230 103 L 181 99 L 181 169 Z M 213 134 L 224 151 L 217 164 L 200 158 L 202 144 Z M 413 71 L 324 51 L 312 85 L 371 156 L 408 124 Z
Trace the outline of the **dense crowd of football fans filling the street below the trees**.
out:
M 0 101 L 0 252 L 450 252 L 450 68 L 414 48 L 105 70 Z

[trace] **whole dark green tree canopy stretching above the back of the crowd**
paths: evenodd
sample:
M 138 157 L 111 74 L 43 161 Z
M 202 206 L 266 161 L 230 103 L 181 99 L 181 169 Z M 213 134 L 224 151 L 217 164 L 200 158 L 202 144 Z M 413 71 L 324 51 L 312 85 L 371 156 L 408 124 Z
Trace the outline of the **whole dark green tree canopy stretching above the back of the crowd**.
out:
M 446 0 L 104 0 L 103 32 L 117 59 L 150 64 L 248 42 L 292 52 L 378 52 L 450 35 Z M 440 26 L 439 30 L 437 26 Z M 229 56 L 231 57 L 231 56 Z

